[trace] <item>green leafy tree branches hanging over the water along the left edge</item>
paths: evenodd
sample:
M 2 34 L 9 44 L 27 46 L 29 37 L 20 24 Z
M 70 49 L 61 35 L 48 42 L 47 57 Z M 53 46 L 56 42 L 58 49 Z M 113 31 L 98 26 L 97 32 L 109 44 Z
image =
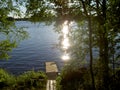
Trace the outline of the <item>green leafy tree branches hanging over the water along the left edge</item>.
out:
M 15 21 L 10 18 L 10 14 L 20 16 L 19 7 L 20 2 L 13 0 L 0 1 L 0 59 L 8 59 L 8 52 L 17 46 L 17 43 L 27 36 L 27 33 L 15 26 Z

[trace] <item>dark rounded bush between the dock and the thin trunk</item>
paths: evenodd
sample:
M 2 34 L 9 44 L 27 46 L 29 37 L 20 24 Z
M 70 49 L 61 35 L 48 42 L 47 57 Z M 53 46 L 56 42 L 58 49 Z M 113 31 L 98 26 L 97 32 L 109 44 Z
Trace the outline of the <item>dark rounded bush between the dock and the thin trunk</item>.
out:
M 85 67 L 72 69 L 71 66 L 64 68 L 57 77 L 57 90 L 92 90 L 88 69 Z

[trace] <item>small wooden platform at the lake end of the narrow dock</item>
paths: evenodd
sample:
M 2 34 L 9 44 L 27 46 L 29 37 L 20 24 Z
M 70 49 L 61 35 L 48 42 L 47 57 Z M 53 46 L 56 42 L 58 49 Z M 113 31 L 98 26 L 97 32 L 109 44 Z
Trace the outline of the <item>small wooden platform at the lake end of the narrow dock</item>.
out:
M 46 74 L 49 80 L 55 80 L 58 75 L 58 67 L 55 62 L 45 62 Z

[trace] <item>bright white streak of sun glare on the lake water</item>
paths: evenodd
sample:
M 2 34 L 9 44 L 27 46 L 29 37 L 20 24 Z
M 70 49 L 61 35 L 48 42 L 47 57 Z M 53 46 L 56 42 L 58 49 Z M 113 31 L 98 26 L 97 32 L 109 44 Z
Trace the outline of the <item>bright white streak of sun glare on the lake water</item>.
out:
M 68 21 L 65 21 L 63 23 L 62 34 L 63 34 L 62 48 L 64 50 L 64 54 L 62 56 L 62 60 L 69 60 L 70 56 L 69 56 L 69 54 L 67 52 L 68 48 L 70 47 Z

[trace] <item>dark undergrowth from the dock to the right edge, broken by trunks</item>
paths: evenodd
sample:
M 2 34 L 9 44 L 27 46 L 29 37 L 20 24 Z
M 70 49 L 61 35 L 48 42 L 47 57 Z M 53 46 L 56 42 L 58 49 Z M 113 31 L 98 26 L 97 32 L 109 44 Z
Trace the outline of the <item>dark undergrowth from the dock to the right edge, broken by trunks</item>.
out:
M 60 76 L 56 79 L 57 90 L 93 90 L 89 68 L 84 66 L 73 68 L 73 64 L 64 67 Z M 98 73 L 101 71 L 98 71 L 98 68 L 99 63 L 93 66 L 95 87 L 96 90 L 101 90 L 103 84 L 101 83 L 101 75 Z M 112 71 L 110 73 L 109 80 L 107 81 L 109 83 L 109 90 L 118 90 L 120 88 L 120 70 L 117 70 L 115 74 L 112 74 Z

